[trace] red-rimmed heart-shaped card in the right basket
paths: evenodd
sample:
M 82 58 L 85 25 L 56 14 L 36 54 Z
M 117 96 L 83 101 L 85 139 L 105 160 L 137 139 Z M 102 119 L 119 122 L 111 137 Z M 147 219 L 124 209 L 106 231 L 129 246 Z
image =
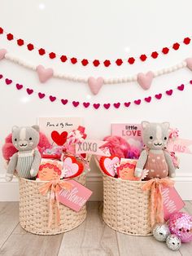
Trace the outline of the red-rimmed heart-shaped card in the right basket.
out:
M 103 172 L 111 177 L 116 176 L 116 165 L 120 164 L 120 158 L 116 156 L 101 157 L 99 165 Z

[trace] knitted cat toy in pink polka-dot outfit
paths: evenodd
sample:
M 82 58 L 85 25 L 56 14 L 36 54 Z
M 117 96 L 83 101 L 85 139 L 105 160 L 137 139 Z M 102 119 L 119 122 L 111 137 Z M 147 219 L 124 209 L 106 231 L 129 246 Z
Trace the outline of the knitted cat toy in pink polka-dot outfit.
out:
M 137 161 L 135 176 L 140 177 L 142 170 L 149 173 L 146 179 L 175 177 L 175 167 L 170 153 L 166 150 L 169 123 L 150 123 L 142 121 L 142 137 L 145 149 Z

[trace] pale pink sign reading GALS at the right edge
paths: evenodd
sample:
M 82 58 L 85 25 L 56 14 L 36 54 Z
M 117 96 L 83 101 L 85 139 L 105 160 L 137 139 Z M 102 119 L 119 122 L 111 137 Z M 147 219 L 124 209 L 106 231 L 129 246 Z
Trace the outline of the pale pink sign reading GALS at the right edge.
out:
M 192 140 L 177 138 L 168 143 L 168 150 L 173 152 L 192 154 Z

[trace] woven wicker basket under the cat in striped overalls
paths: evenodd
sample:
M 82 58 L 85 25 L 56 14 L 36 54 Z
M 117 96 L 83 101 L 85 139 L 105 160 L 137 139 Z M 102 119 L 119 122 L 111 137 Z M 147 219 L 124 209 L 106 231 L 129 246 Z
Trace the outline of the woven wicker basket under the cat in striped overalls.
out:
M 85 174 L 76 178 L 76 181 L 85 185 Z M 20 226 L 26 231 L 38 235 L 55 235 L 68 232 L 79 226 L 86 218 L 85 205 L 79 212 L 60 204 L 60 224 L 55 225 L 55 210 L 53 223 L 48 228 L 49 207 L 47 196 L 42 196 L 38 188 L 43 182 L 29 179 L 20 179 Z

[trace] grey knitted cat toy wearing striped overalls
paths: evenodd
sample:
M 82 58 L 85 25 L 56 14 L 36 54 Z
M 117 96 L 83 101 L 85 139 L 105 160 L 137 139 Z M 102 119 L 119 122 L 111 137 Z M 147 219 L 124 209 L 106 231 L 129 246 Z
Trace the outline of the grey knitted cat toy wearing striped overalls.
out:
M 18 152 L 15 152 L 9 161 L 7 181 L 11 181 L 15 170 L 20 177 L 32 179 L 37 175 L 41 161 L 41 155 L 36 149 L 39 143 L 39 126 L 14 126 L 12 142 Z

